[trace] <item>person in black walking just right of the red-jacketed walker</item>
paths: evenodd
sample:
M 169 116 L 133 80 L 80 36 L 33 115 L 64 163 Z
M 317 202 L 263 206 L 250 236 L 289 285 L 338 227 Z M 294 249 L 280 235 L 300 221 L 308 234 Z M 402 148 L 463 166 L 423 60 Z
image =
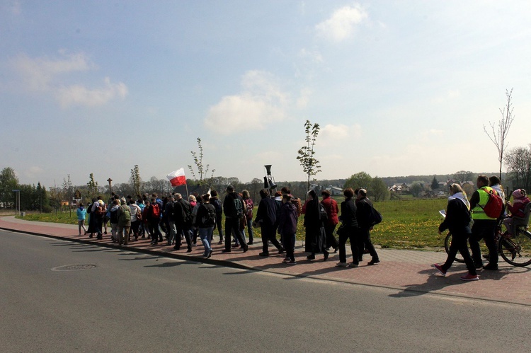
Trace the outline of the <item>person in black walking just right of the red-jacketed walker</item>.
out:
M 351 187 L 346 188 L 343 191 L 345 195 L 345 201 L 341 202 L 341 222 L 343 227 L 339 233 L 339 262 L 337 267 L 348 267 L 347 254 L 345 245 L 347 239 L 350 240 L 350 250 L 352 251 L 352 267 L 360 267 L 359 261 L 359 228 L 358 219 L 356 218 L 356 204 L 353 200 L 354 190 Z

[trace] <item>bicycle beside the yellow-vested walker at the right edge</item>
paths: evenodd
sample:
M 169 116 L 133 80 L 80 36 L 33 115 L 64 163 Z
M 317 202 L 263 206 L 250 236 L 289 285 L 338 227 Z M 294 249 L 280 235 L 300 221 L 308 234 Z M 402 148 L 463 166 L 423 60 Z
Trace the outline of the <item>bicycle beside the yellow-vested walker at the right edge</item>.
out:
M 496 248 L 498 254 L 503 260 L 510 265 L 525 267 L 531 265 L 531 233 L 528 231 L 527 225 L 515 226 L 513 235 L 508 235 L 501 231 L 501 221 L 496 226 Z M 445 238 L 445 251 L 450 251 L 450 244 L 452 243 L 452 233 L 448 232 Z M 472 250 L 470 250 L 472 253 Z M 457 253 L 455 256 L 457 262 L 464 262 L 461 254 Z

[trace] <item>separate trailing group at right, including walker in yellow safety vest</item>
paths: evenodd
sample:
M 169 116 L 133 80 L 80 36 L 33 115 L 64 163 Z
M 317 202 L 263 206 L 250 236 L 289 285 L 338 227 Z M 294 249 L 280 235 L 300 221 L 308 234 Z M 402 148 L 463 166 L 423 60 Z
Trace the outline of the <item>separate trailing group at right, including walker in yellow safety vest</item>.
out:
M 448 198 L 445 220 L 439 226 L 439 234 L 442 234 L 447 229 L 450 230 L 452 243 L 446 262 L 433 265 L 442 276 L 445 276 L 447 270 L 452 266 L 457 252 L 462 255 L 464 263 L 467 265 L 468 272 L 461 277 L 464 281 L 478 280 L 479 276 L 476 269 L 498 270 L 496 228 L 503 221 L 507 228 L 506 236 L 510 236 L 513 232 L 511 225 L 514 217 L 523 217 L 525 204 L 530 202 L 523 189 L 513 192 L 514 205 L 506 202 L 501 180 L 495 175 L 490 178 L 486 175 L 479 175 L 476 180 L 476 186 L 477 190 L 474 191 L 470 200 L 467 199 L 467 194 L 459 184 L 449 186 L 450 197 Z M 489 195 L 491 194 L 498 195 L 504 205 L 497 216 L 486 212 Z M 510 216 L 507 214 L 506 209 L 510 212 Z M 470 225 L 471 223 L 472 226 Z M 485 241 L 485 245 L 489 250 L 489 253 L 483 256 L 489 260 L 486 265 L 483 265 L 483 257 L 479 246 L 481 239 Z M 469 253 L 468 243 L 470 244 L 472 255 Z

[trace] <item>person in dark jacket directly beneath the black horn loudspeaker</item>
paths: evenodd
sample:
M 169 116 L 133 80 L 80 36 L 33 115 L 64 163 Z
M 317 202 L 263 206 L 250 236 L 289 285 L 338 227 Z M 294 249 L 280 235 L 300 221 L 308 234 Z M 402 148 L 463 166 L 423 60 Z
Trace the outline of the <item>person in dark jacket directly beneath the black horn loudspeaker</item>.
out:
M 268 241 L 270 241 L 275 248 L 278 249 L 279 254 L 284 253 L 284 248 L 278 243 L 276 234 L 277 224 L 277 204 L 275 200 L 269 197 L 267 189 L 260 190 L 260 204 L 258 204 L 258 211 L 254 222 L 260 224 L 262 231 L 262 252 L 258 255 L 269 256 Z

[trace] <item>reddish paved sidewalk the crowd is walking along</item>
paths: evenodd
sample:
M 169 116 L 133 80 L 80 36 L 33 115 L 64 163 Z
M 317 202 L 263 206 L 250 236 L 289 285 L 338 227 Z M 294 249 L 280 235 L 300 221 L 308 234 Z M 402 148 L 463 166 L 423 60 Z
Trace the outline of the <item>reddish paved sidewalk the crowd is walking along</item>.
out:
M 0 228 L 118 248 L 110 241 L 110 236 L 104 236 L 102 241 L 89 238 L 89 236 L 78 236 L 77 226 L 72 225 L 24 221 L 15 219 L 14 216 L 4 216 L 0 217 Z M 217 239 L 216 234 L 217 232 L 215 232 L 215 240 Z M 214 265 L 239 267 L 246 270 L 286 274 L 295 278 L 311 277 L 401 290 L 396 296 L 436 293 L 531 306 L 531 268 L 510 266 L 503 262 L 501 257 L 499 271 L 480 270 L 478 272 L 479 281 L 464 282 L 459 277 L 466 273 L 467 269 L 458 262 L 454 263 L 446 277 L 436 274 L 436 270 L 431 265 L 435 262 L 445 261 L 446 254 L 442 252 L 378 249 L 381 261 L 379 264 L 367 266 L 370 256 L 365 255 L 360 267 L 340 268 L 335 266 L 339 261 L 338 253 L 331 253 L 326 262 L 323 261 L 322 254 L 317 254 L 316 260 L 308 261 L 306 259 L 308 254 L 304 253 L 302 242 L 297 242 L 295 248 L 297 265 L 283 264 L 284 255 L 278 255 L 274 247 L 269 248 L 271 254 L 269 257 L 259 256 L 258 253 L 261 253 L 262 250 L 260 238 L 255 239 L 253 245 L 249 245 L 247 253 L 234 248 L 231 253 L 222 253 L 223 245 L 217 245 L 216 241 L 214 243 L 215 245 L 212 246 L 214 253 L 210 259 L 205 259 L 202 256 L 204 248 L 199 238 L 198 246 L 193 248 L 191 253 L 186 253 L 186 246 L 181 246 L 181 250 L 173 250 L 173 246 L 165 245 L 165 241 L 153 246 L 149 244 L 149 239 L 132 241 L 129 246 L 122 247 L 122 249 Z M 350 248 L 347 248 L 348 261 L 350 259 L 349 254 Z

